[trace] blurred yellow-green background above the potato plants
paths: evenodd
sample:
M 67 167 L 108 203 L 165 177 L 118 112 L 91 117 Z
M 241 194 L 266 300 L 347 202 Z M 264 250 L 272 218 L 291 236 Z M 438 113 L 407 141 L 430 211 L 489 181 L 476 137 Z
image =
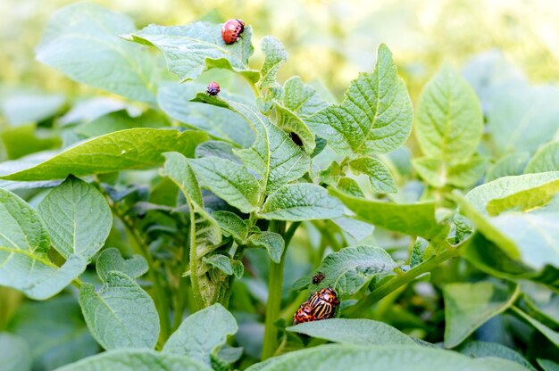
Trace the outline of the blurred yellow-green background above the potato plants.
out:
M 35 61 L 34 48 L 49 16 L 69 0 L 2 0 L 0 76 L 5 88 L 68 92 L 87 87 Z M 413 98 L 444 60 L 462 68 L 472 55 L 500 49 L 533 82 L 559 79 L 559 4 L 554 0 L 99 0 L 149 23 L 186 24 L 203 18 L 241 18 L 254 44 L 280 38 L 289 53 L 280 79 L 315 79 L 338 98 L 359 71 L 372 70 L 380 43 L 395 55 Z M 256 48 L 258 49 L 258 48 Z M 259 65 L 256 51 L 252 62 Z

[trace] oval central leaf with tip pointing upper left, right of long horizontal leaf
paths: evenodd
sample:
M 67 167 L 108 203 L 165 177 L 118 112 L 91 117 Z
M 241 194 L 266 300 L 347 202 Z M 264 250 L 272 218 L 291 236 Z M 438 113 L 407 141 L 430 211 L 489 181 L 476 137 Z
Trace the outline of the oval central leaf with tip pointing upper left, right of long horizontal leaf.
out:
M 189 160 L 188 165 L 196 174 L 200 185 L 229 205 L 242 212 L 255 209 L 259 201 L 260 186 L 245 166 L 219 157 Z

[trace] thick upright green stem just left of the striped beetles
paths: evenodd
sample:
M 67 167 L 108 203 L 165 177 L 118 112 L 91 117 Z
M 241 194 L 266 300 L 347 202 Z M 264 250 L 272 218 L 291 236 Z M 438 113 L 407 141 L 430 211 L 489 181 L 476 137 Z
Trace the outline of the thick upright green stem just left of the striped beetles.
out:
M 278 328 L 274 326 L 274 322 L 280 317 L 281 294 L 283 292 L 283 266 L 285 264 L 286 251 L 288 251 L 289 242 L 295 234 L 296 228 L 301 222 L 294 222 L 289 226 L 288 231 L 283 234 L 285 248 L 281 254 L 280 263 L 270 262 L 270 273 L 268 276 L 268 302 L 266 303 L 266 317 L 264 320 L 264 341 L 262 348 L 262 359 L 269 359 L 273 356 L 278 348 Z M 277 231 L 281 234 L 285 228 L 285 222 L 270 223 L 270 230 Z

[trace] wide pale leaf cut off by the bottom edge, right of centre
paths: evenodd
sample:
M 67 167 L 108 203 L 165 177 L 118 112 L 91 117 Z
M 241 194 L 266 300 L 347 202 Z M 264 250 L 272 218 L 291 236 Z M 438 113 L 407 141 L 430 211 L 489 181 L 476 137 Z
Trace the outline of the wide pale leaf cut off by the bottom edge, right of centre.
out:
M 284 371 L 306 369 L 347 369 L 352 371 L 447 369 L 477 371 L 525 371 L 526 368 L 507 359 L 471 359 L 460 353 L 412 345 L 363 346 L 328 344 L 297 350 L 278 359 L 269 359 L 247 371 Z

